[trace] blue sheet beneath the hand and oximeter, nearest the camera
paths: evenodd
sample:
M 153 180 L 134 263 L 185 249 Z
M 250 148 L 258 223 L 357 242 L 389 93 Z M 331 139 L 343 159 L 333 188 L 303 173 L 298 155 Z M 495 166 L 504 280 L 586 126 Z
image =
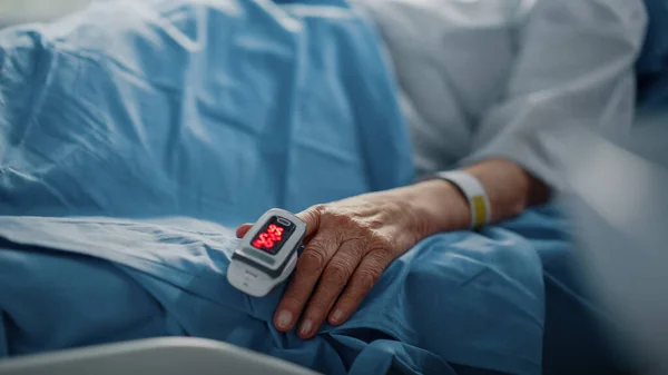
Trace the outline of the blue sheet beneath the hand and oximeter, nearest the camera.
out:
M 389 267 L 348 322 L 302 341 L 272 324 L 283 286 L 253 298 L 226 282 L 235 241 L 217 224 L 4 216 L 0 343 L 6 355 L 20 355 L 187 335 L 326 374 L 456 374 L 456 365 L 539 374 L 536 249 L 562 244 L 563 224 L 532 211 L 510 225 L 528 234 L 489 228 L 423 240 Z

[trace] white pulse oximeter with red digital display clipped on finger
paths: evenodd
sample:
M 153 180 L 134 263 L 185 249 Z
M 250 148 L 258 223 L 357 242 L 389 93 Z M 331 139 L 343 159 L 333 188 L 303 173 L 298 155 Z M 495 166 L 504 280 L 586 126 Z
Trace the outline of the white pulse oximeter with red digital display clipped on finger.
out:
M 254 297 L 264 297 L 295 269 L 306 225 L 279 208 L 266 211 L 234 251 L 227 280 Z

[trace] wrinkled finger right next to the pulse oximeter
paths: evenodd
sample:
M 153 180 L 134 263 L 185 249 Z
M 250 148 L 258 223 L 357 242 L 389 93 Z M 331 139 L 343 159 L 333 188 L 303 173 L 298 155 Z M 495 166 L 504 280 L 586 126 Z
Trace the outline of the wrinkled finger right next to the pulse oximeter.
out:
M 325 265 L 337 249 L 338 239 L 334 230 L 321 231 L 308 243 L 297 259 L 295 274 L 274 315 L 276 329 L 286 332 L 294 327 Z

